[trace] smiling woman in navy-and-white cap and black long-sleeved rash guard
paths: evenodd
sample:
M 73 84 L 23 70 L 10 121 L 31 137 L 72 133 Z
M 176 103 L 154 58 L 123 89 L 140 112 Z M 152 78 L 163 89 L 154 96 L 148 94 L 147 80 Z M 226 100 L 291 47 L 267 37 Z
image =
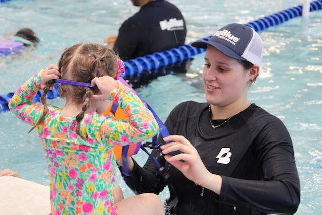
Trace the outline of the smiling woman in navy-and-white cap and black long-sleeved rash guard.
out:
M 247 98 L 260 70 L 260 36 L 229 24 L 192 46 L 207 49 L 207 103 L 179 104 L 165 122 L 172 135 L 158 138 L 170 142 L 161 148 L 178 198 L 174 214 L 295 213 L 300 182 L 291 137 L 281 120 Z M 135 193 L 167 185 L 151 159 L 143 168 L 128 161 L 132 174 L 123 178 Z

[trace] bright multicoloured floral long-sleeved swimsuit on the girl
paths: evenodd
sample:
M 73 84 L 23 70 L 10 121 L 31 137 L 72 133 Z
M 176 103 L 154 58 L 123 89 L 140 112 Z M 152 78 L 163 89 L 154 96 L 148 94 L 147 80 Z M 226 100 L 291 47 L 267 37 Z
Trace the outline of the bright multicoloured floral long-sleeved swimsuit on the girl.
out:
M 21 86 L 9 103 L 11 111 L 30 125 L 42 115 L 42 105 L 32 103 L 40 89 L 40 74 Z M 158 133 L 152 113 L 129 88 L 118 84 L 110 100 L 124 110 L 129 120 L 86 113 L 81 133 L 87 137 L 82 139 L 76 134 L 76 117 L 63 117 L 60 108 L 49 105 L 44 122 L 36 127 L 48 161 L 52 215 L 116 214 L 112 147 L 135 144 Z

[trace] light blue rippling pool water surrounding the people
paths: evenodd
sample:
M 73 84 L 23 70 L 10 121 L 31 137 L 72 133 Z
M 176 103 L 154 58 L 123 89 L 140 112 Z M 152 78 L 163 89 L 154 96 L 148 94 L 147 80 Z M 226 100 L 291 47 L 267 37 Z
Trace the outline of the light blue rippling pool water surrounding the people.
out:
M 209 36 L 231 23 L 248 23 L 275 13 L 275 1 L 176 0 L 183 12 L 188 34 L 186 43 Z M 302 1 L 283 1 L 283 9 Z M 0 3 L 0 35 L 32 28 L 41 38 L 34 50 L 0 58 L 0 94 L 16 90 L 41 68 L 57 63 L 61 51 L 79 42 L 101 43 L 115 34 L 120 24 L 138 11 L 128 0 L 118 1 L 22 1 Z M 320 214 L 322 204 L 322 11 L 308 20 L 295 18 L 260 32 L 265 53 L 260 76 L 250 89 L 251 102 L 278 116 L 294 144 L 301 180 L 301 204 L 296 214 Z M 201 71 L 203 56 L 195 56 L 186 74 L 158 77 L 137 89 L 165 120 L 170 110 L 186 100 L 205 101 Z M 63 101 L 50 102 L 61 105 Z M 36 132 L 9 112 L 0 113 L 0 169 L 11 168 L 23 178 L 49 183 L 45 156 Z M 135 159 L 144 164 L 147 156 Z M 125 196 L 133 193 L 120 177 Z M 160 195 L 168 197 L 167 189 Z

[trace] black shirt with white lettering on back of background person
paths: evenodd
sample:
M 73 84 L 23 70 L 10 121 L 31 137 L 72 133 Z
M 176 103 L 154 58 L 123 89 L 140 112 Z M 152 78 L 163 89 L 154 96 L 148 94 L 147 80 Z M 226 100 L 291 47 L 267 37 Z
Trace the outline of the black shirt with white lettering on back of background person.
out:
M 186 23 L 173 4 L 157 0 L 124 21 L 113 50 L 122 60 L 178 47 L 185 43 Z

